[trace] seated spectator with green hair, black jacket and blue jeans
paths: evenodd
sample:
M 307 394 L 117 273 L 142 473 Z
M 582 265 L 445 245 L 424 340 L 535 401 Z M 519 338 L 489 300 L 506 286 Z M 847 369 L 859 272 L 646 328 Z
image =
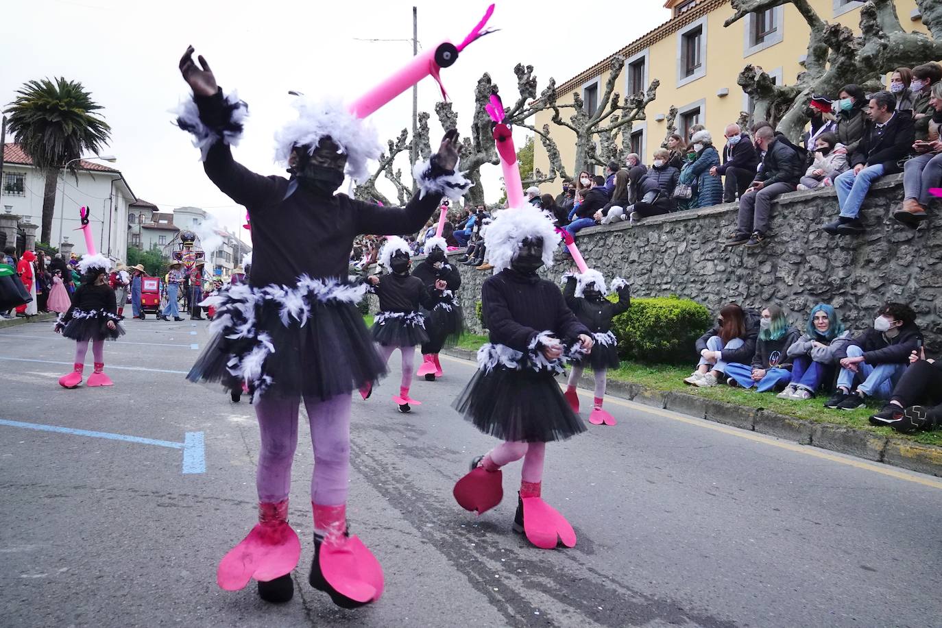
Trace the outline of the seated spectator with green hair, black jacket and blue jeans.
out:
M 759 336 L 751 364 L 726 364 L 726 383 L 730 386 L 752 388 L 759 393 L 781 390 L 791 381 L 791 362 L 788 347 L 798 340 L 798 329 L 788 324 L 788 317 L 777 305 L 762 311 Z

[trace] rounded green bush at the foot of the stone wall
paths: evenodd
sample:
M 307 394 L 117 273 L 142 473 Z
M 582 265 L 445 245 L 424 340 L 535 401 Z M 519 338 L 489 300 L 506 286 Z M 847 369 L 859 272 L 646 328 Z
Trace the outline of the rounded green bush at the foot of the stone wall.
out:
M 611 330 L 625 360 L 654 363 L 690 362 L 693 344 L 710 326 L 706 307 L 686 298 L 632 298 L 625 314 L 615 317 Z

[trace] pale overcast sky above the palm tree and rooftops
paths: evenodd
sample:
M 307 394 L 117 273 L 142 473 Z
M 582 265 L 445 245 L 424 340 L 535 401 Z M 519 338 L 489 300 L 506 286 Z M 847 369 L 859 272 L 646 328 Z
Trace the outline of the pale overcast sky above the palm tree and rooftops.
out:
M 412 56 L 412 7 L 418 7 L 422 47 L 459 41 L 487 2 L 229 2 L 187 0 L 30 0 L 3 3 L 0 104 L 30 79 L 64 76 L 84 84 L 111 125 L 114 154 L 138 198 L 162 210 L 194 205 L 235 230 L 244 212 L 212 185 L 187 134 L 171 125 L 188 93 L 177 63 L 192 43 L 219 85 L 237 89 L 251 118 L 235 158 L 264 174 L 273 163 L 272 134 L 287 120 L 289 89 L 352 100 Z M 578 8 L 578 12 L 575 9 Z M 490 72 L 505 102 L 516 96 L 513 66 L 531 64 L 539 89 L 557 83 L 637 39 L 670 17 L 659 0 L 613 4 L 498 2 L 490 25 L 500 32 L 471 45 L 442 79 L 464 131 L 474 110 L 474 86 Z M 369 41 L 369 40 L 402 41 Z M 434 115 L 440 100 L 431 79 L 419 85 L 419 110 L 431 114 L 432 150 L 441 137 Z M 383 139 L 412 127 L 411 91 L 373 116 Z M 518 139 L 518 144 L 520 139 Z M 405 164 L 408 166 L 408 164 Z M 405 168 L 408 169 L 408 168 Z M 485 166 L 485 195 L 499 196 L 499 167 Z M 382 187 L 392 195 L 391 189 Z

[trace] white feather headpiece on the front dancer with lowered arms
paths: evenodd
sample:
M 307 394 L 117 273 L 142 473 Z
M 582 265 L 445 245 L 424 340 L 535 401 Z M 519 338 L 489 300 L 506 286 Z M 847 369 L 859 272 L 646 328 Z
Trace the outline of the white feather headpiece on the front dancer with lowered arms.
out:
M 527 238 L 543 239 L 543 263 L 553 266 L 553 253 L 560 243 L 560 236 L 553 221 L 543 210 L 532 205 L 520 209 L 505 209 L 488 225 L 484 235 L 487 257 L 498 273 L 511 266 L 513 256 Z

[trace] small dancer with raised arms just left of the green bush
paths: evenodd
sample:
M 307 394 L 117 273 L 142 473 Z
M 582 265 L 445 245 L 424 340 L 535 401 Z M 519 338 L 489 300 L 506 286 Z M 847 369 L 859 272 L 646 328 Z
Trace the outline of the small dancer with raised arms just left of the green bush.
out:
M 587 365 L 591 366 L 595 378 L 595 396 L 589 423 L 595 426 L 603 424 L 613 426 L 615 418 L 609 412 L 602 410 L 602 402 L 605 399 L 609 368 L 618 368 L 620 364 L 618 339 L 611 332 L 611 319 L 627 312 L 631 305 L 628 282 L 621 277 L 616 277 L 610 286 L 606 286 L 602 273 L 592 268 L 575 275 L 567 273 L 563 275 L 563 279 L 565 287 L 562 290 L 562 297 L 566 299 L 566 305 L 573 311 L 573 314 L 576 314 L 579 322 L 592 331 L 595 340 L 592 353 L 588 358 L 580 357 L 573 360 L 564 396 L 573 411 L 578 412 L 579 396 L 576 393 L 576 385 L 582 377 L 582 369 Z M 612 303 L 606 298 L 609 295 L 609 287 L 610 290 L 618 293 L 617 303 Z

